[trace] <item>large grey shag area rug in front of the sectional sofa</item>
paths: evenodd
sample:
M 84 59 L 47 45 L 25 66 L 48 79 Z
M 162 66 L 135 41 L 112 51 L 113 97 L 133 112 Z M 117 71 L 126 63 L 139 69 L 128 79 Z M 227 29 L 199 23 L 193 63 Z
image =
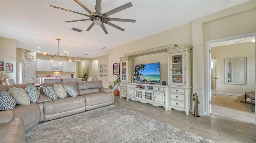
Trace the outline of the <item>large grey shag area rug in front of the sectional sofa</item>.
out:
M 115 105 L 40 123 L 26 143 L 213 143 Z

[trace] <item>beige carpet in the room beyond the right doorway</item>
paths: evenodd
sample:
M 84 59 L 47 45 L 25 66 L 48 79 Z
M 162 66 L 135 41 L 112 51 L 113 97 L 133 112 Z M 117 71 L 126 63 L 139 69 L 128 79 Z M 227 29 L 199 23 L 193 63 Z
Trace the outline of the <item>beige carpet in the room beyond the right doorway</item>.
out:
M 211 106 L 212 115 L 254 124 L 255 112 L 252 112 L 251 100 L 249 98 L 244 103 L 244 100 L 237 102 L 235 96 L 212 95 Z

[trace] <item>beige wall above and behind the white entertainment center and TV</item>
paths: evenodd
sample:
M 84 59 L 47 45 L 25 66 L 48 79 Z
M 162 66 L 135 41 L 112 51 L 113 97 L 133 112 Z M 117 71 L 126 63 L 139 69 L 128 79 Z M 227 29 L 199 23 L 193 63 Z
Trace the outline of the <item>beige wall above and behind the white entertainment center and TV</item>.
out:
M 109 65 L 113 63 L 120 63 L 120 57 L 125 54 L 134 53 L 136 51 L 143 51 L 165 45 L 192 45 L 192 24 L 186 24 L 174 29 L 163 31 L 148 37 L 138 39 L 136 41 L 120 45 L 109 50 Z M 135 57 L 134 63 L 156 63 L 160 62 L 161 81 L 165 80 L 168 83 L 168 54 L 167 52 Z M 116 80 L 113 75 L 113 69 L 110 69 L 109 81 L 112 83 Z

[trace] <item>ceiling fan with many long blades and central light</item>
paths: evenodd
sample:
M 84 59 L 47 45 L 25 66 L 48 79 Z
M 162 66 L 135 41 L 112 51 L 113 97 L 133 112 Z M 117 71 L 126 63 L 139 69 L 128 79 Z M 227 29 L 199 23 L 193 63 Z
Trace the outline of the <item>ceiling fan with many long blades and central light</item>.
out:
M 112 14 L 115 14 L 117 12 L 120 12 L 122 10 L 125 10 L 126 8 L 130 8 L 132 7 L 132 3 L 129 2 L 127 4 L 124 4 L 122 6 L 119 6 L 118 8 L 115 8 L 113 10 L 110 10 L 108 12 L 105 12 L 103 14 L 100 13 L 100 10 L 101 10 L 101 0 L 96 0 L 96 5 L 95 5 L 95 9 L 96 9 L 96 12 L 92 12 L 90 11 L 88 8 L 86 8 L 86 6 L 84 6 L 81 2 L 79 2 L 78 0 L 74 0 L 76 3 L 78 3 L 80 6 L 82 6 L 82 8 L 84 8 L 87 12 L 90 13 L 90 15 L 87 15 L 87 14 L 82 14 L 80 12 L 75 12 L 75 11 L 72 11 L 72 10 L 68 10 L 68 9 L 65 9 L 65 8 L 59 8 L 57 6 L 52 6 L 50 5 L 52 8 L 58 8 L 60 10 L 65 10 L 65 11 L 68 11 L 68 12 L 74 12 L 76 14 L 81 14 L 83 16 L 87 16 L 89 18 L 87 19 L 82 19 L 82 20 L 71 20 L 71 21 L 66 21 L 67 23 L 68 22 L 80 22 L 80 21 L 87 21 L 87 20 L 91 20 L 92 21 L 92 24 L 86 29 L 86 31 L 89 31 L 92 26 L 94 24 L 96 25 L 100 25 L 103 29 L 103 31 L 105 32 L 105 34 L 108 34 L 108 31 L 106 29 L 106 27 L 104 26 L 104 24 L 108 24 L 112 27 L 115 27 L 121 31 L 124 31 L 125 29 L 115 25 L 115 24 L 112 24 L 111 22 L 109 21 L 117 21 L 117 22 L 135 22 L 136 20 L 130 20 L 130 19 L 121 19 L 121 18 L 109 18 L 108 16 L 112 15 Z M 104 23 L 104 24 L 103 24 Z

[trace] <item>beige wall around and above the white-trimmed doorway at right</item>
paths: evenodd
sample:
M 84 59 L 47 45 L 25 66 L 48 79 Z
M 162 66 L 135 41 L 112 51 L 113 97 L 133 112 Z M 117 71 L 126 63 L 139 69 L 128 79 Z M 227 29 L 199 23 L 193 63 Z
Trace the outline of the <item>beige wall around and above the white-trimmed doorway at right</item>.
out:
M 193 61 L 192 61 L 192 93 L 197 93 L 200 104 L 199 113 L 206 111 L 206 76 L 205 42 L 208 40 L 231 37 L 256 31 L 256 1 L 240 5 L 192 20 Z M 250 24 L 248 24 L 250 23 Z M 196 80 L 195 80 L 196 79 Z

